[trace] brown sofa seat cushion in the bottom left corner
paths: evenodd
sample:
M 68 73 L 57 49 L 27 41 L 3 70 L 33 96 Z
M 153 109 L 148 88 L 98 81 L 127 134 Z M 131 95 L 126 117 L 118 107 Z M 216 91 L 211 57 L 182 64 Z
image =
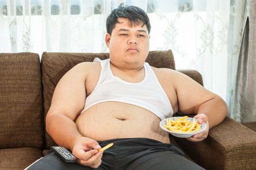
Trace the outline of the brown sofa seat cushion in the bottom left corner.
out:
M 39 148 L 0 149 L 0 170 L 24 170 L 40 157 Z

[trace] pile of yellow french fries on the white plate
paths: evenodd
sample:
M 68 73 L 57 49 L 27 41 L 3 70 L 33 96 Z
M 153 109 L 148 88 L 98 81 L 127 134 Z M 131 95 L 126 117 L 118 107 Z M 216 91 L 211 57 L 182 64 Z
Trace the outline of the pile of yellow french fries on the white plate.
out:
M 187 116 L 177 118 L 175 120 L 169 119 L 163 127 L 167 128 L 173 132 L 187 133 L 187 132 L 197 132 L 200 130 L 201 125 L 196 121 L 185 120 Z

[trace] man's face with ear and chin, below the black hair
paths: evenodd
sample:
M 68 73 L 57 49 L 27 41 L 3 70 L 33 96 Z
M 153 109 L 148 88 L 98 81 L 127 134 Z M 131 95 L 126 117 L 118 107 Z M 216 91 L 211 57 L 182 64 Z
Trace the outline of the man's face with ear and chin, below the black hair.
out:
M 112 34 L 106 35 L 106 44 L 113 65 L 124 69 L 143 67 L 149 52 L 149 34 L 146 25 L 129 25 L 127 18 L 118 18 Z

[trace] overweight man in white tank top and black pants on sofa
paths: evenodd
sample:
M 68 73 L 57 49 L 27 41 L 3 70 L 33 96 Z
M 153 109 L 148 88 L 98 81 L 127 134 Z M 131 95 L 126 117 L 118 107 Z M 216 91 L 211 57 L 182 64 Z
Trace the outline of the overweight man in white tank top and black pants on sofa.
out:
M 178 111 L 196 114 L 207 128 L 187 140 L 202 141 L 227 116 L 226 103 L 182 73 L 145 63 L 151 26 L 142 9 L 122 4 L 106 26 L 109 59 L 70 69 L 46 116 L 49 135 L 78 162 L 50 153 L 29 170 L 202 170 L 170 144 L 159 122 Z M 109 143 L 114 145 L 99 151 Z

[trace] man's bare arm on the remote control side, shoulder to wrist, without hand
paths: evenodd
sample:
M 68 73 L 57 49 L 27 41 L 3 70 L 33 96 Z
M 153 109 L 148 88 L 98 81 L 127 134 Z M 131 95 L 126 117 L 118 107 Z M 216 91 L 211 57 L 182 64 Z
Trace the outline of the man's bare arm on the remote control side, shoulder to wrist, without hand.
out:
M 46 131 L 58 145 L 67 149 L 71 149 L 72 139 L 80 135 L 74 122 L 86 97 L 86 77 L 78 76 L 81 75 L 80 69 L 80 66 L 76 66 L 60 79 L 46 116 Z

